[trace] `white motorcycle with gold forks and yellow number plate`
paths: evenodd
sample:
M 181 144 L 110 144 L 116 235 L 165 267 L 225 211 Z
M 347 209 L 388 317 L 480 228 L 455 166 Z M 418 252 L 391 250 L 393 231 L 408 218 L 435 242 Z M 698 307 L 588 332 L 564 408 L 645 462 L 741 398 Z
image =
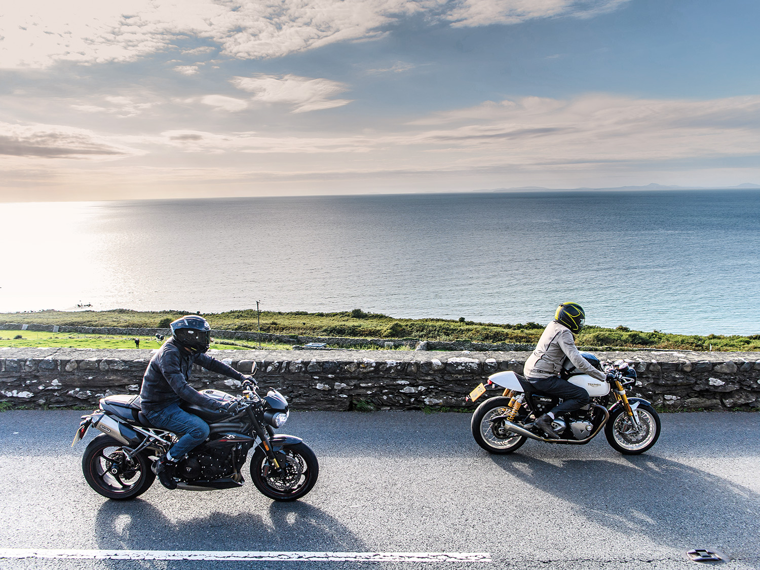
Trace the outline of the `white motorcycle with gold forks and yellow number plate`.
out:
M 602 366 L 591 353 L 581 353 L 594 368 Z M 626 455 L 644 453 L 660 437 L 660 416 L 651 404 L 639 397 L 628 397 L 626 388 L 636 383 L 636 371 L 624 360 L 606 369 L 608 380 L 597 380 L 579 372 L 572 363 L 565 365 L 562 377 L 584 388 L 591 403 L 580 410 L 557 416 L 552 428 L 560 439 L 547 438 L 534 421 L 548 412 L 559 399 L 537 391 L 525 378 L 515 372 L 496 372 L 488 378 L 489 388 L 504 388 L 501 396 L 490 397 L 477 407 L 470 427 L 480 447 L 489 453 L 511 453 L 528 439 L 545 443 L 583 445 L 591 442 L 604 429 L 607 441 Z M 486 393 L 480 384 L 467 398 L 476 401 Z

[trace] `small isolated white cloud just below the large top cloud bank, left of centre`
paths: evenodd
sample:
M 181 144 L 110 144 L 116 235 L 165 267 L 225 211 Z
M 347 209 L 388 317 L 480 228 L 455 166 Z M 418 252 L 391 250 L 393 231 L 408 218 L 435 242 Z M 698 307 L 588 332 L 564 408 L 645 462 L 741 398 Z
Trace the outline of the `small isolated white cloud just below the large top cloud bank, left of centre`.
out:
M 331 99 L 348 87 L 329 79 L 302 78 L 292 74 L 256 74 L 250 78 L 233 78 L 231 83 L 238 89 L 253 93 L 254 101 L 290 105 L 293 106 L 293 112 L 332 109 L 351 102 L 347 99 Z

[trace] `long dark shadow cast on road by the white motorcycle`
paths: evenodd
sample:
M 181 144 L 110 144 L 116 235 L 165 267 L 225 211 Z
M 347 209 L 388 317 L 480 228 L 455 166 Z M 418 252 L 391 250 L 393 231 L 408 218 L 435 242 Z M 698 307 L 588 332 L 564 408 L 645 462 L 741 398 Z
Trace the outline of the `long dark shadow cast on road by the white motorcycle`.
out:
M 647 454 L 491 458 L 511 477 L 560 499 L 557 508 L 572 505 L 610 530 L 666 547 L 712 546 L 733 559 L 758 559 L 760 495 L 705 470 Z

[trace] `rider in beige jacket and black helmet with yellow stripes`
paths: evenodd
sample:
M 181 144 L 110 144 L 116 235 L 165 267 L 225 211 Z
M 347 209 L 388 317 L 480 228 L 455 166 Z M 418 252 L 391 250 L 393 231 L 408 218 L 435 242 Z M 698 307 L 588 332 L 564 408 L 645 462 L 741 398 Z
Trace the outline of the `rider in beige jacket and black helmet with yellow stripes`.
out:
M 591 366 L 575 347 L 574 334 L 583 328 L 584 310 L 577 302 L 563 302 L 557 307 L 554 320 L 546 325 L 536 350 L 525 361 L 523 375 L 539 391 L 562 398 L 562 403 L 537 418 L 534 426 L 540 427 L 552 439 L 559 435 L 552 428 L 556 416 L 578 410 L 591 401 L 588 392 L 559 377 L 565 359 L 575 368 L 597 380 L 606 380 L 606 374 Z

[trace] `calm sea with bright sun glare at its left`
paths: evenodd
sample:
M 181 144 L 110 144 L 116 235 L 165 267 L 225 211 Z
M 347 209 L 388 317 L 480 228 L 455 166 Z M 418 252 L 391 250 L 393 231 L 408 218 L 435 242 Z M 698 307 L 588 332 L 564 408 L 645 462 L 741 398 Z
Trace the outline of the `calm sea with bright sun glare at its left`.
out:
M 342 311 L 760 332 L 760 192 L 0 204 L 0 311 Z M 213 319 L 212 319 L 213 321 Z M 213 322 L 212 322 L 213 325 Z

